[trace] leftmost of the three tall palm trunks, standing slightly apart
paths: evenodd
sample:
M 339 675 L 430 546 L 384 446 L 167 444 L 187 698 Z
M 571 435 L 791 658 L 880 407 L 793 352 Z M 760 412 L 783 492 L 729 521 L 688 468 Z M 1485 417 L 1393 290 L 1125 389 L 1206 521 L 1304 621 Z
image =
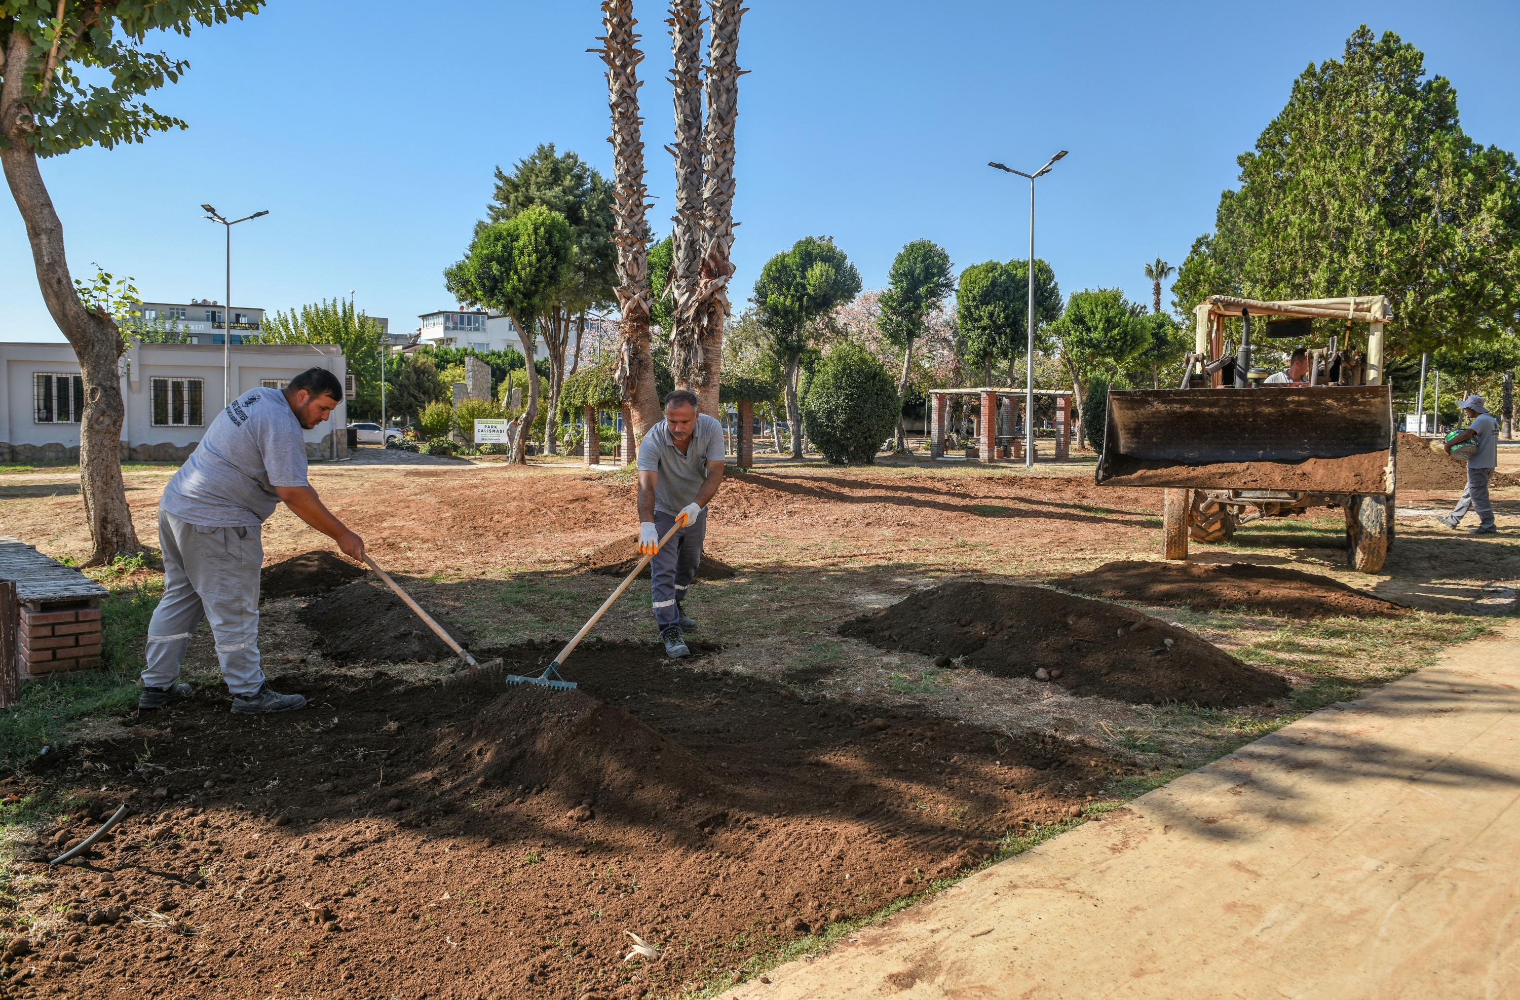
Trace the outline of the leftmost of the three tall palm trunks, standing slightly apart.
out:
M 600 49 L 606 64 L 606 102 L 613 111 L 613 240 L 617 243 L 619 363 L 617 384 L 628 404 L 634 433 L 660 422 L 654 359 L 649 354 L 649 223 L 644 219 L 644 140 L 638 117 L 638 50 L 634 0 L 602 0 Z M 626 456 L 625 456 L 626 457 Z

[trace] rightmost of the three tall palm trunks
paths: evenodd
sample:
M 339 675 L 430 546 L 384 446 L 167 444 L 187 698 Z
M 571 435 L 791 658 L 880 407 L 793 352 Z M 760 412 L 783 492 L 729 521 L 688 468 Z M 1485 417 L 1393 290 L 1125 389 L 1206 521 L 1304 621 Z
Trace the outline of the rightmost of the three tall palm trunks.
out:
M 695 307 L 701 357 L 705 360 L 698 400 L 717 413 L 717 383 L 728 319 L 728 278 L 734 274 L 734 120 L 739 117 L 740 0 L 711 0 L 707 47 L 707 126 L 702 134 L 702 263 Z

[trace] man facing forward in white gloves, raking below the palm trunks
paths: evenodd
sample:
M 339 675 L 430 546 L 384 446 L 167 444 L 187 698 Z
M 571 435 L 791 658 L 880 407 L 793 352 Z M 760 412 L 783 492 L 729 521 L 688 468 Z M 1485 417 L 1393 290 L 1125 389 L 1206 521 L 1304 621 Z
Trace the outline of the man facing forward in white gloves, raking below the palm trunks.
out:
M 696 628 L 686 617 L 686 600 L 707 536 L 707 503 L 724 485 L 724 426 L 696 412 L 696 397 L 676 389 L 666 397 L 666 418 L 638 442 L 638 552 L 649 561 L 654 582 L 655 625 L 666 655 L 692 650 L 684 632 Z M 670 541 L 660 540 L 679 524 Z

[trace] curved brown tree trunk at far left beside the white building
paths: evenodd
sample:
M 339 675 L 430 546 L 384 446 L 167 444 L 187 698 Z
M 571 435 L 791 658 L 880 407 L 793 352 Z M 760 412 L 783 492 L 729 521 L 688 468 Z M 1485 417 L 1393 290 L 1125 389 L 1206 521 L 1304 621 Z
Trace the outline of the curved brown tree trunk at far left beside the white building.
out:
M 102 565 L 112 556 L 132 556 L 143 550 L 126 506 L 126 485 L 122 482 L 122 421 L 126 406 L 122 400 L 120 357 L 125 350 L 116 321 L 90 310 L 74 293 L 68 260 L 64 255 L 64 226 L 53 208 L 53 199 L 43 184 L 36 155 L 26 135 L 15 128 L 21 65 L 27 41 L 20 30 L 12 32 L 6 62 L 12 67 L 5 81 L 0 116 L 8 123 L 9 141 L 0 150 L 0 166 L 15 198 L 15 207 L 26 222 L 26 237 L 32 245 L 36 283 L 53 322 L 73 345 L 79 357 L 85 406 L 79 421 L 79 495 L 90 524 L 93 549 L 85 565 Z

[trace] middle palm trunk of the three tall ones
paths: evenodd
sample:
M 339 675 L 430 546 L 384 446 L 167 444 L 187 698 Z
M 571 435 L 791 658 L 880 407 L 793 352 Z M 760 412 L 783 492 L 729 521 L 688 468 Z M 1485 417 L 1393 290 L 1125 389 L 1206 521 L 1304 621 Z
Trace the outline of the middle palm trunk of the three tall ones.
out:
M 675 242 L 670 260 L 670 374 L 682 389 L 705 381 L 696 328 L 702 264 L 702 0 L 670 0 L 670 85 L 675 93 Z

